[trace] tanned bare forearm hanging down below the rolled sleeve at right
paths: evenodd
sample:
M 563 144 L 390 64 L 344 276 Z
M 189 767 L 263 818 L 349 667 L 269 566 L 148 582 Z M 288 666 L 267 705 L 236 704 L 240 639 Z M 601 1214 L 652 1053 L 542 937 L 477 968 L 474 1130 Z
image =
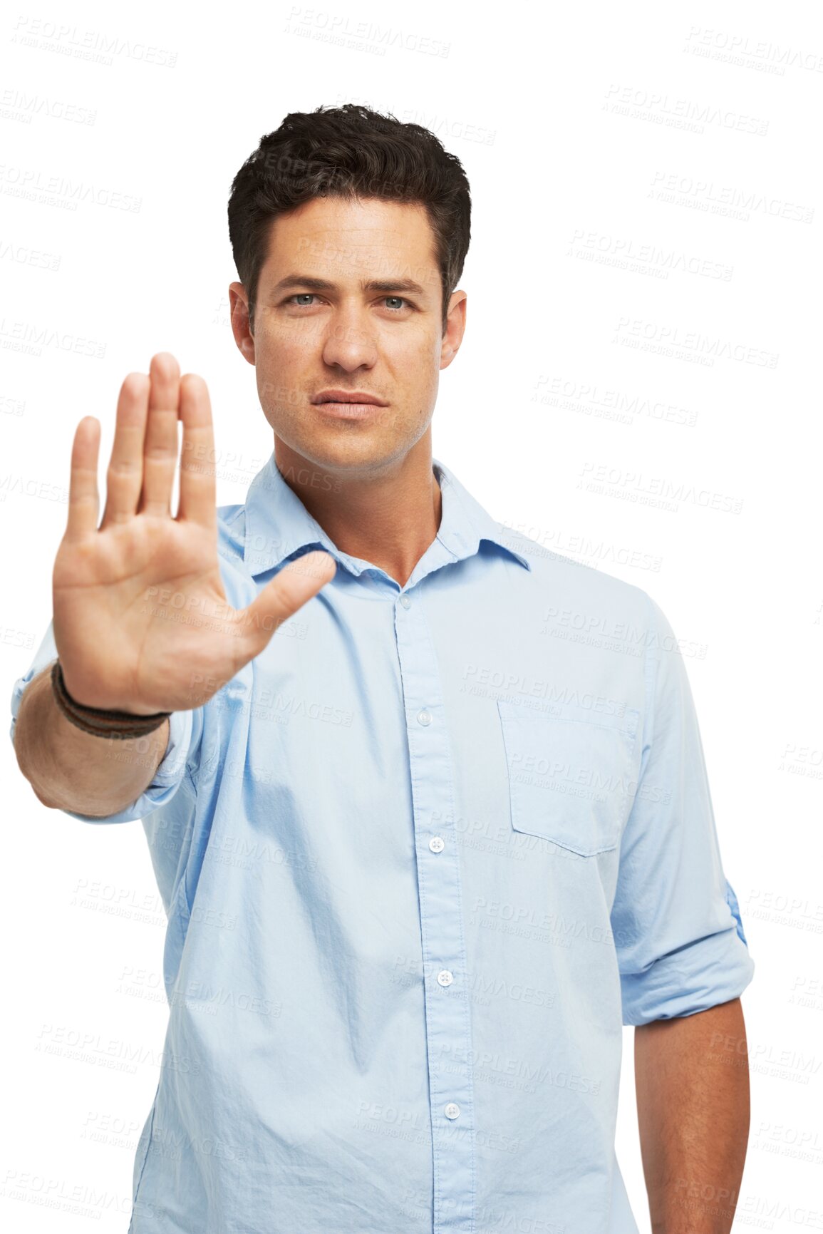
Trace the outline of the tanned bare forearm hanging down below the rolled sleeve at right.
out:
M 749 1137 L 740 1000 L 638 1027 L 634 1079 L 653 1234 L 728 1234 Z

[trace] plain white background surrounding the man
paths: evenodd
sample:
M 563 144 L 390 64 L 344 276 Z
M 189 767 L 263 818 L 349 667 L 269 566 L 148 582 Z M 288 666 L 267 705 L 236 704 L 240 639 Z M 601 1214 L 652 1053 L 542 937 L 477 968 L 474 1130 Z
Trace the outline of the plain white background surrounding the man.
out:
M 74 429 L 102 423 L 102 494 L 126 373 L 172 350 L 205 376 L 221 505 L 244 500 L 271 452 L 227 301 L 226 202 L 260 136 L 345 101 L 432 128 L 474 204 L 468 331 L 440 379 L 434 457 L 495 517 L 648 590 L 682 639 L 756 965 L 735 1228 L 823 1229 L 819 10 L 7 11 L 7 695 L 51 617 Z M 0 756 L 2 1220 L 114 1234 L 159 1075 L 163 908 L 139 823 L 46 810 L 11 743 Z M 79 1038 L 97 1065 L 73 1060 Z M 106 1066 L 111 1043 L 154 1061 Z M 647 1230 L 631 1029 L 617 1149 Z

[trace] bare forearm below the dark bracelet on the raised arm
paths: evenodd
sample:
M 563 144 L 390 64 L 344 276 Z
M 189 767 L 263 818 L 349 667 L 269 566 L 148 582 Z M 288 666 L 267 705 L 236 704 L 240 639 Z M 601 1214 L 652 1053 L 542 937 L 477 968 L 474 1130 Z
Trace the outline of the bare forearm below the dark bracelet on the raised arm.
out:
M 152 782 L 169 739 L 169 722 L 147 737 L 118 740 L 84 733 L 54 701 L 49 664 L 26 687 L 15 724 L 17 765 L 35 795 L 54 810 L 105 817 Z

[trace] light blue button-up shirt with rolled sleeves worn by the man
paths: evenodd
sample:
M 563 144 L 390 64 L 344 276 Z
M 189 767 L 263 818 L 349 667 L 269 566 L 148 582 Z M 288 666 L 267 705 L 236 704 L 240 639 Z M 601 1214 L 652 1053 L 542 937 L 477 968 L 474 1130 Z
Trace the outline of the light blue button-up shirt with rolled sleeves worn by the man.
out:
M 334 579 L 137 801 L 65 811 L 143 819 L 168 913 L 131 1234 L 637 1234 L 621 1025 L 751 980 L 665 616 L 433 465 L 400 587 L 271 454 L 218 510 L 228 602 L 312 548 Z

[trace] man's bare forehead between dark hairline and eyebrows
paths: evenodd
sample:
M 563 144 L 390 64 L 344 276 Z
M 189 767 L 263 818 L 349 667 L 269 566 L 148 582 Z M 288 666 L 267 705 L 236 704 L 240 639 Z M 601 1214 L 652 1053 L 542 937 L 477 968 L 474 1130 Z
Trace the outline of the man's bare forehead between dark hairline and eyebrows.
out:
M 434 232 L 421 202 L 315 197 L 273 220 L 260 279 L 403 276 L 439 288 Z

